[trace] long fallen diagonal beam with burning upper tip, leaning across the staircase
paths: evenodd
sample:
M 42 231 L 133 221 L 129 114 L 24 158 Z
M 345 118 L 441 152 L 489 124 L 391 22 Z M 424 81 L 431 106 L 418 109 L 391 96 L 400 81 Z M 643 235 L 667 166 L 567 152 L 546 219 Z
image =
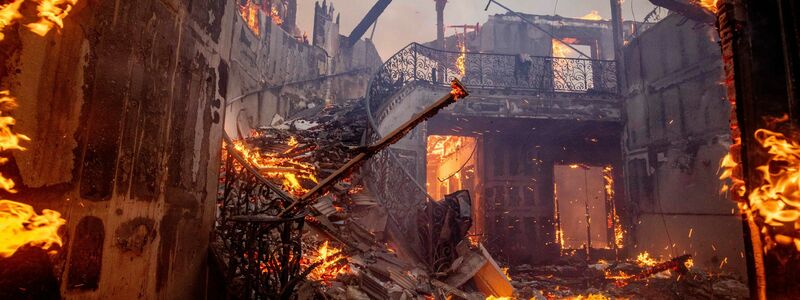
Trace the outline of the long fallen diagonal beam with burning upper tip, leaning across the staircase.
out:
M 377 141 L 375 144 L 368 146 L 362 149 L 362 152 L 359 153 L 356 157 L 348 161 L 345 165 L 340 167 L 336 172 L 328 176 L 327 178 L 323 179 L 322 181 L 317 184 L 314 188 L 309 190 L 305 195 L 303 195 L 299 201 L 295 201 L 289 207 L 287 207 L 284 211 L 282 211 L 278 216 L 284 216 L 285 214 L 292 212 L 296 209 L 299 209 L 305 205 L 308 205 L 311 200 L 315 199 L 318 196 L 325 194 L 325 192 L 333 186 L 339 180 L 348 176 L 353 170 L 357 167 L 361 166 L 367 159 L 374 156 L 376 153 L 380 152 L 383 149 L 388 148 L 390 145 L 396 143 L 403 137 L 405 137 L 408 132 L 410 132 L 414 127 L 419 125 L 420 123 L 424 122 L 425 120 L 430 119 L 431 117 L 435 116 L 439 113 L 440 110 L 447 107 L 450 104 L 455 103 L 458 99 L 465 98 L 469 96 L 469 92 L 467 89 L 461 84 L 458 79 L 453 79 L 450 82 L 450 87 L 452 88 L 447 95 L 442 96 L 434 102 L 432 105 L 428 106 L 424 111 L 416 114 L 410 120 L 406 121 L 403 125 L 392 131 L 391 133 L 384 136 L 381 140 Z

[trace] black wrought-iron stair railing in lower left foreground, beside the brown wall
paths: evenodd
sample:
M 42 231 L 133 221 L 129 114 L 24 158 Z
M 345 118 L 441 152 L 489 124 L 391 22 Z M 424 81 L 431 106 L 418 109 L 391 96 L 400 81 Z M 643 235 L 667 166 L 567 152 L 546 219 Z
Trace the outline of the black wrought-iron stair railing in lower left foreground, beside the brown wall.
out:
M 304 213 L 277 217 L 294 201 L 231 147 L 220 176 L 216 241 L 228 292 L 241 299 L 290 299 L 308 268 L 300 265 Z

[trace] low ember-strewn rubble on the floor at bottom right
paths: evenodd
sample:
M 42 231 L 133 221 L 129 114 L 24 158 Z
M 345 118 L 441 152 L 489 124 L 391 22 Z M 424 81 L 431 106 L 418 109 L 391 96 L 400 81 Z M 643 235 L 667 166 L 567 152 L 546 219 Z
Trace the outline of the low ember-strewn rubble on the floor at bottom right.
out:
M 553 265 L 514 266 L 509 274 L 521 299 L 749 298 L 747 285 L 738 276 L 696 267 L 667 270 L 642 280 L 620 280 L 646 273 L 650 268 L 635 259 L 587 264 L 565 257 Z

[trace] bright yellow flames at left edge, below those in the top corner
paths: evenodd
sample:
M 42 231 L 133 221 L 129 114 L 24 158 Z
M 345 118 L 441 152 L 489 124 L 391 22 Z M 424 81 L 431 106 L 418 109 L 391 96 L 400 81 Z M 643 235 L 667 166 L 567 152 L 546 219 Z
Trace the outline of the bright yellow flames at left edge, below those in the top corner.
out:
M 8 91 L 0 91 L 0 151 L 24 151 L 19 142 L 30 140 L 27 136 L 14 133 L 11 127 L 15 124 L 13 117 L 7 114 L 17 107 L 16 99 Z M 0 158 L 0 164 L 8 162 L 8 158 Z M 0 188 L 16 193 L 14 181 L 0 174 Z M 62 245 L 58 236 L 58 228 L 66 224 L 61 214 L 54 210 L 44 209 L 36 214 L 33 207 L 10 200 L 0 200 L 0 257 L 13 255 L 17 249 L 25 245 L 49 249 L 54 244 Z

